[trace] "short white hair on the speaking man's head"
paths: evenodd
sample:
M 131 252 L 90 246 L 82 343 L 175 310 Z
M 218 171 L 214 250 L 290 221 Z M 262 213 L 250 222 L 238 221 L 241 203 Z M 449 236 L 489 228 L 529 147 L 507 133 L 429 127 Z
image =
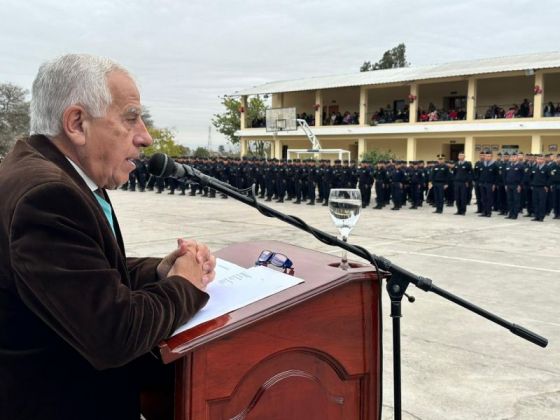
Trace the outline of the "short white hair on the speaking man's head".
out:
M 53 138 L 62 133 L 62 116 L 71 105 L 81 105 L 93 117 L 103 117 L 112 97 L 107 75 L 128 71 L 105 58 L 67 54 L 39 68 L 31 93 L 30 134 Z

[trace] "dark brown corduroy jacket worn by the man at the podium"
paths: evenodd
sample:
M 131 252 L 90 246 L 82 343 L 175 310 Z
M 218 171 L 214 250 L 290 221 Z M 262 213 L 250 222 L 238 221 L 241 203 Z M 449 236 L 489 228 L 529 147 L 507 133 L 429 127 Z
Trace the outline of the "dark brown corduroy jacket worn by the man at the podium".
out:
M 0 419 L 138 420 L 140 360 L 208 295 L 114 227 L 48 138 L 0 165 Z

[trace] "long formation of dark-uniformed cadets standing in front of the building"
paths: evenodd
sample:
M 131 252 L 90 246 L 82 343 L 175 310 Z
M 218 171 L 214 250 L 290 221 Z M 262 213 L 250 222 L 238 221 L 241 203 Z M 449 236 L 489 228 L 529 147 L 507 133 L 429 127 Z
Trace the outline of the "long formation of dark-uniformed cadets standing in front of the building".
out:
M 501 157 L 500 157 L 501 155 Z M 526 217 L 543 221 L 547 215 L 560 218 L 560 155 L 524 155 L 503 153 L 496 161 L 492 152 L 481 152 L 482 159 L 473 165 L 465 160 L 463 152 L 458 161 L 378 161 L 375 168 L 364 160 L 356 167 L 355 161 L 293 159 L 268 161 L 258 158 L 177 158 L 177 162 L 195 167 L 207 175 L 236 188 L 250 188 L 265 201 L 294 204 L 318 201 L 328 205 L 332 188 L 359 188 L 362 208 L 371 203 L 375 186 L 374 209 L 381 209 L 392 201 L 391 210 L 400 210 L 410 201 L 410 209 L 422 206 L 425 194 L 428 203 L 435 207 L 434 213 L 442 213 L 445 200 L 455 202 L 456 215 L 465 215 L 470 204 L 472 188 L 477 197 L 477 213 L 490 217 L 492 211 L 504 214 L 506 219 L 517 219 L 526 209 Z M 122 188 L 129 191 L 169 190 L 181 195 L 190 188 L 190 195 L 201 194 L 214 198 L 216 191 L 188 179 L 158 178 L 147 176 L 146 159 L 136 161 L 134 176 Z M 147 178 L 147 179 L 146 179 Z M 503 185 L 505 198 L 499 189 Z M 451 188 L 448 188 L 451 187 Z M 447 191 L 453 190 L 453 193 Z M 222 194 L 223 198 L 227 198 Z M 449 204 L 449 203 L 448 203 Z

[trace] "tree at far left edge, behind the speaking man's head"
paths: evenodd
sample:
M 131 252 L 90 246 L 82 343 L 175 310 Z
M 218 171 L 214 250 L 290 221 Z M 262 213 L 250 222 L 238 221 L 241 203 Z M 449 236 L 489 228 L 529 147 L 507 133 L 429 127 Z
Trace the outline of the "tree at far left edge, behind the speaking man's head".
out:
M 29 134 L 27 91 L 11 83 L 0 83 L 0 156 L 12 148 L 19 137 Z

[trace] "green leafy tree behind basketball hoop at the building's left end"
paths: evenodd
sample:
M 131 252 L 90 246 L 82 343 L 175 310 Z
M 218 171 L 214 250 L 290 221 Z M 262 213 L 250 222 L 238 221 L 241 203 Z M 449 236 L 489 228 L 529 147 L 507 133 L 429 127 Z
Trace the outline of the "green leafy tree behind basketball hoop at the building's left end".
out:
M 215 114 L 212 118 L 212 124 L 219 133 L 222 133 L 231 144 L 239 143 L 239 138 L 235 132 L 241 128 L 240 108 L 241 101 L 231 96 L 224 96 L 222 105 L 225 112 Z M 260 96 L 254 96 L 247 102 L 247 124 L 250 126 L 257 119 L 264 119 L 267 105 Z

